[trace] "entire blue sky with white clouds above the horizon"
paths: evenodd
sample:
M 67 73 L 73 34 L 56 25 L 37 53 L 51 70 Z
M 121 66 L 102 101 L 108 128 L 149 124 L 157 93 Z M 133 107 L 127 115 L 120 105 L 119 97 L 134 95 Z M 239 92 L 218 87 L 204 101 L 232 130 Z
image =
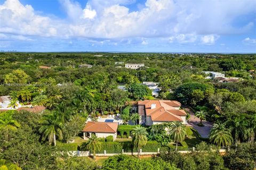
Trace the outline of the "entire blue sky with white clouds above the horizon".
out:
M 256 1 L 0 0 L 0 50 L 256 53 Z

